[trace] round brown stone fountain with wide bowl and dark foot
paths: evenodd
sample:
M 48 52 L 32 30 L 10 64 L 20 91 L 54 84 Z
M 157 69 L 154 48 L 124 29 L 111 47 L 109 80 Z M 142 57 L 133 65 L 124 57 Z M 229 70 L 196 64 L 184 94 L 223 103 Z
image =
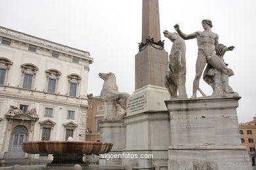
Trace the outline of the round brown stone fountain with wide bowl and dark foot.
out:
M 34 141 L 22 143 L 22 150 L 28 154 L 53 154 L 47 169 L 72 169 L 75 164 L 86 169 L 89 164 L 83 161 L 84 154 L 104 154 L 112 146 L 112 143 L 98 142 Z

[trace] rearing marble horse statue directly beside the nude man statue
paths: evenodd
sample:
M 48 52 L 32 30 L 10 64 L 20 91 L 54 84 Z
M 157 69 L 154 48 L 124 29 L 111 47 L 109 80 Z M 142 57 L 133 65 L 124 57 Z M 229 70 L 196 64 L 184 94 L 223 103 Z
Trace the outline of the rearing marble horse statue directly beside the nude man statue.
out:
M 165 75 L 165 86 L 171 95 L 171 98 L 186 99 L 186 44 L 185 41 L 177 33 L 163 31 L 173 46 L 169 55 L 168 70 Z M 179 91 L 179 96 L 177 92 Z

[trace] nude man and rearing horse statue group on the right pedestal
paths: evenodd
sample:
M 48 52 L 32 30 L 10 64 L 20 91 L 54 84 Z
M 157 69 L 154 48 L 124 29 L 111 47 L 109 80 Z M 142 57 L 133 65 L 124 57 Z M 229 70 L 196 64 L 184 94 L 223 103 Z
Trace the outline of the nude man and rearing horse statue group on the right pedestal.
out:
M 234 93 L 228 85 L 228 76 L 234 75 L 233 71 L 224 63 L 224 53 L 233 50 L 234 46 L 226 47 L 219 44 L 219 36 L 211 31 L 213 24 L 211 20 L 202 21 L 203 31 L 196 31 L 186 35 L 179 27 L 179 24 L 174 25 L 177 33 L 169 33 L 163 31 L 165 37 L 173 42 L 171 54 L 169 55 L 169 73 L 165 76 L 165 86 L 169 90 L 171 97 L 184 98 L 186 89 L 186 46 L 184 40 L 197 39 L 198 42 L 198 58 L 196 60 L 196 76 L 193 82 L 193 94 L 191 99 L 196 98 L 199 88 L 200 78 L 203 74 L 203 80 L 213 88 L 213 95 L 228 95 Z M 174 38 L 175 37 L 175 38 Z M 181 37 L 181 38 L 179 38 Z M 177 42 L 179 39 L 179 43 Z M 183 62 L 183 63 L 182 63 Z M 207 67 L 203 73 L 203 69 L 207 63 Z M 171 85 L 170 85 L 171 84 Z M 177 88 L 179 95 L 177 95 Z M 181 88 L 181 89 L 180 89 Z M 175 93 L 173 93 L 173 89 Z

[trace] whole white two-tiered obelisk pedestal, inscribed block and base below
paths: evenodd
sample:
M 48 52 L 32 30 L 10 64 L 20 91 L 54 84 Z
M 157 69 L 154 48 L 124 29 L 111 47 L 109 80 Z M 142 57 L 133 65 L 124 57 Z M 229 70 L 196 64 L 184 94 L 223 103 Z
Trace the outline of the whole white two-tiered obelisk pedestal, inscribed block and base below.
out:
M 126 148 L 124 154 L 136 154 L 137 159 L 123 159 L 123 165 L 152 167 L 167 165 L 169 146 L 169 113 L 164 101 L 170 95 L 166 88 L 147 85 L 127 99 Z M 152 154 L 142 159 L 140 155 Z

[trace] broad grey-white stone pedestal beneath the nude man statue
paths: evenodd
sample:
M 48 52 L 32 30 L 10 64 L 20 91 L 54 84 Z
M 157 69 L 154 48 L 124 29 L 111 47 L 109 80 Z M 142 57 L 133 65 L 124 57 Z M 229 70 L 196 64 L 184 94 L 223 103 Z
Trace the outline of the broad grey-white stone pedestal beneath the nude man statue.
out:
M 240 97 L 165 101 L 170 117 L 170 169 L 252 169 L 241 145 Z

